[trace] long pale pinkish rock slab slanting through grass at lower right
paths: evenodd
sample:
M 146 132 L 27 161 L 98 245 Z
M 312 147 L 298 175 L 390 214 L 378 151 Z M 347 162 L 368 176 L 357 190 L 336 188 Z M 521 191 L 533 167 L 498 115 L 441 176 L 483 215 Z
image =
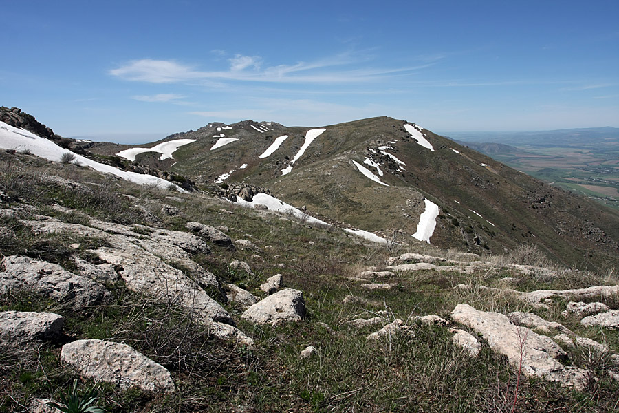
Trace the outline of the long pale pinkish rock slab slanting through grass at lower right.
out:
M 515 326 L 506 315 L 475 310 L 468 304 L 457 305 L 451 317 L 481 334 L 490 348 L 506 355 L 512 365 L 519 366 L 522 360 L 525 376 L 556 381 L 576 390 L 585 388 L 589 372 L 563 366 L 557 359 L 564 359 L 566 354 L 549 337 Z

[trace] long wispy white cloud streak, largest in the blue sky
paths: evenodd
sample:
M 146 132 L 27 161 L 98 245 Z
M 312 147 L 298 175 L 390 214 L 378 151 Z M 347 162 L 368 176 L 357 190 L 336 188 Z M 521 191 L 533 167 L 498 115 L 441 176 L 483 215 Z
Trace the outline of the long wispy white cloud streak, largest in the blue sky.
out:
M 127 81 L 148 83 L 191 83 L 196 81 L 254 81 L 268 83 L 354 83 L 377 81 L 387 76 L 411 74 L 413 70 L 422 69 L 434 63 L 424 63 L 415 67 L 393 69 L 361 68 L 342 70 L 341 65 L 355 63 L 347 54 L 340 54 L 330 59 L 310 63 L 300 62 L 294 65 L 276 65 L 261 68 L 259 56 L 235 55 L 228 59 L 230 68 L 221 71 L 197 70 L 173 60 L 140 59 L 110 70 L 109 74 Z

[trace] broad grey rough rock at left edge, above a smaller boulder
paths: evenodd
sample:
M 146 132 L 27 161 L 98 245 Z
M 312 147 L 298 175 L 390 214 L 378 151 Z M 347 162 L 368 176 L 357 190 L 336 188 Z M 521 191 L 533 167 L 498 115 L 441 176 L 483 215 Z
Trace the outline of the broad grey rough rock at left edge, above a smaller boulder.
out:
M 105 302 L 111 297 L 100 284 L 66 271 L 58 264 L 11 255 L 2 260 L 0 294 L 10 290 L 31 290 L 58 299 L 80 310 Z

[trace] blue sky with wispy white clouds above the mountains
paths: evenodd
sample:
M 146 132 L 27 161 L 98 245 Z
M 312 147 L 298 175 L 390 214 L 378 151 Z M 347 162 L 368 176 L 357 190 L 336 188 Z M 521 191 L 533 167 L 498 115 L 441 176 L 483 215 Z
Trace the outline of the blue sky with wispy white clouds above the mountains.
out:
M 391 116 L 619 127 L 619 1 L 5 1 L 0 105 L 63 136 Z

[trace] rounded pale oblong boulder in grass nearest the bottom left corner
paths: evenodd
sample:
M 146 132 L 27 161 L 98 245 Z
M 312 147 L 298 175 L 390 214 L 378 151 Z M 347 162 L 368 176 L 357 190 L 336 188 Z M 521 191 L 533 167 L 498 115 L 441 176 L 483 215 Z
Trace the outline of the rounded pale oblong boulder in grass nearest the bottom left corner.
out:
M 65 344 L 61 361 L 80 375 L 120 388 L 137 387 L 146 392 L 176 390 L 170 372 L 127 344 L 102 340 L 77 340 Z

